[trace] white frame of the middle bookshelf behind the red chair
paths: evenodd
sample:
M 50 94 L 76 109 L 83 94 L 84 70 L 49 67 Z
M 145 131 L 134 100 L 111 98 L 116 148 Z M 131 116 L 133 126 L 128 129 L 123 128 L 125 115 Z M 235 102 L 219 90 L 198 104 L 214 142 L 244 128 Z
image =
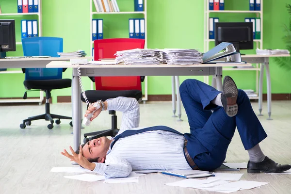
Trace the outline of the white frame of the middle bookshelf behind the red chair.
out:
M 117 3 L 119 1 L 122 1 L 122 0 L 117 0 Z M 132 0 L 134 1 L 134 0 Z M 92 19 L 94 15 L 117 15 L 116 18 L 118 18 L 118 16 L 120 15 L 143 15 L 144 18 L 145 18 L 145 49 L 147 48 L 147 15 L 146 15 L 146 0 L 143 0 L 144 1 L 144 11 L 143 12 L 135 12 L 135 11 L 123 11 L 122 9 L 120 10 L 120 12 L 94 12 L 93 10 L 95 10 L 95 5 L 93 3 L 93 0 L 90 0 L 90 53 L 91 55 L 90 56 L 93 56 L 93 53 L 92 53 L 92 48 L 93 48 L 93 40 L 92 40 Z M 93 9 L 94 8 L 94 9 Z M 130 18 L 130 17 L 129 17 Z M 128 18 L 128 19 L 129 19 Z M 128 21 L 128 20 L 127 20 Z M 106 23 L 103 22 L 103 33 L 104 33 L 104 26 L 106 26 Z M 127 27 L 127 29 L 129 29 Z M 127 33 L 129 34 L 129 33 Z M 128 38 L 129 36 L 127 37 L 123 37 L 123 38 Z M 114 37 L 111 37 L 111 38 L 114 38 Z M 143 97 L 143 101 L 144 103 L 146 102 L 147 100 L 147 76 L 145 77 L 145 80 L 144 80 L 144 83 L 145 83 L 145 86 L 144 86 L 144 97 Z M 91 89 L 94 90 L 95 89 L 95 86 L 94 86 L 94 83 L 91 82 Z

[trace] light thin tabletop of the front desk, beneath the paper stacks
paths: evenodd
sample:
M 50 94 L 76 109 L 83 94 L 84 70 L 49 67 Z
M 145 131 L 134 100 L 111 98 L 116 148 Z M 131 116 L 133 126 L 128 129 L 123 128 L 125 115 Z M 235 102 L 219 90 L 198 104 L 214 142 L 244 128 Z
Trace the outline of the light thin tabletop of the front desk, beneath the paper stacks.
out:
M 49 68 L 180 68 L 180 67 L 221 67 L 221 66 L 251 66 L 251 64 L 229 64 L 229 63 L 221 63 L 221 64 L 199 64 L 199 65 L 167 65 L 167 64 L 153 64 L 153 65 L 71 65 L 66 61 L 52 61 L 47 67 Z

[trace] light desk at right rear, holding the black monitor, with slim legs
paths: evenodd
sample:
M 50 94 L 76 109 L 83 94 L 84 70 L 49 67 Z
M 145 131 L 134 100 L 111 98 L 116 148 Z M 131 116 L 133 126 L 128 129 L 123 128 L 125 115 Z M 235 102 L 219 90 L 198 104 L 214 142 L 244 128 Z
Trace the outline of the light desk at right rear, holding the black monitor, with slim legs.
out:
M 263 73 L 264 73 L 264 67 L 266 67 L 266 78 L 267 78 L 267 104 L 268 104 L 268 120 L 272 120 L 271 118 L 271 109 L 272 109 L 272 91 L 271 91 L 271 78 L 270 78 L 270 69 L 269 69 L 269 58 L 270 57 L 290 57 L 290 55 L 242 55 L 242 61 L 245 61 L 249 64 L 261 64 L 260 65 L 260 74 L 259 74 L 259 116 L 261 116 L 262 112 L 262 101 L 263 101 Z M 237 66 L 237 65 L 235 65 Z M 245 70 L 245 69 L 240 69 Z M 215 78 L 213 78 L 215 79 Z M 212 79 L 212 86 L 215 86 L 216 81 Z M 180 94 L 178 91 L 179 87 L 179 78 L 178 76 L 172 77 L 172 104 L 173 104 L 173 117 L 175 117 L 176 113 L 176 98 L 175 98 L 175 85 L 177 90 L 177 111 L 178 111 L 178 121 L 181 120 L 181 102 L 180 102 Z

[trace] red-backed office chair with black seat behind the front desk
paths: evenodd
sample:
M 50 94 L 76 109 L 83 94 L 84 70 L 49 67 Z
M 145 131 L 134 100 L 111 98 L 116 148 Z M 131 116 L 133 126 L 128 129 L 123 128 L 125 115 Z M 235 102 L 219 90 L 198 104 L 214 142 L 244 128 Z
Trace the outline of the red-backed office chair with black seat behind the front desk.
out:
M 106 58 L 115 58 L 114 54 L 119 50 L 128 49 L 144 49 L 144 39 L 134 38 L 111 38 L 100 39 L 94 41 L 94 60 Z M 105 101 L 114 97 L 134 97 L 141 102 L 143 93 L 141 82 L 144 80 L 142 76 L 118 76 L 118 77 L 95 77 L 96 90 L 86 91 L 86 97 L 88 101 L 93 103 L 97 100 Z M 81 100 L 84 102 L 84 98 L 81 95 Z M 112 115 L 111 129 L 102 130 L 92 133 L 84 134 L 84 143 L 92 139 L 97 139 L 102 136 L 115 136 L 119 129 L 117 129 L 117 116 L 115 111 L 109 111 Z M 87 136 L 91 136 L 87 138 Z

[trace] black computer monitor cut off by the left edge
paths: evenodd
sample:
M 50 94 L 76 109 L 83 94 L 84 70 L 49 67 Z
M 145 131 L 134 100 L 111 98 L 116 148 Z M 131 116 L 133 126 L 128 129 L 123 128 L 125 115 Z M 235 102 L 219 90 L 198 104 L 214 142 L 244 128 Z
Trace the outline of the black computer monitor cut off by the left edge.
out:
M 0 52 L 6 51 L 16 51 L 14 19 L 0 19 Z

